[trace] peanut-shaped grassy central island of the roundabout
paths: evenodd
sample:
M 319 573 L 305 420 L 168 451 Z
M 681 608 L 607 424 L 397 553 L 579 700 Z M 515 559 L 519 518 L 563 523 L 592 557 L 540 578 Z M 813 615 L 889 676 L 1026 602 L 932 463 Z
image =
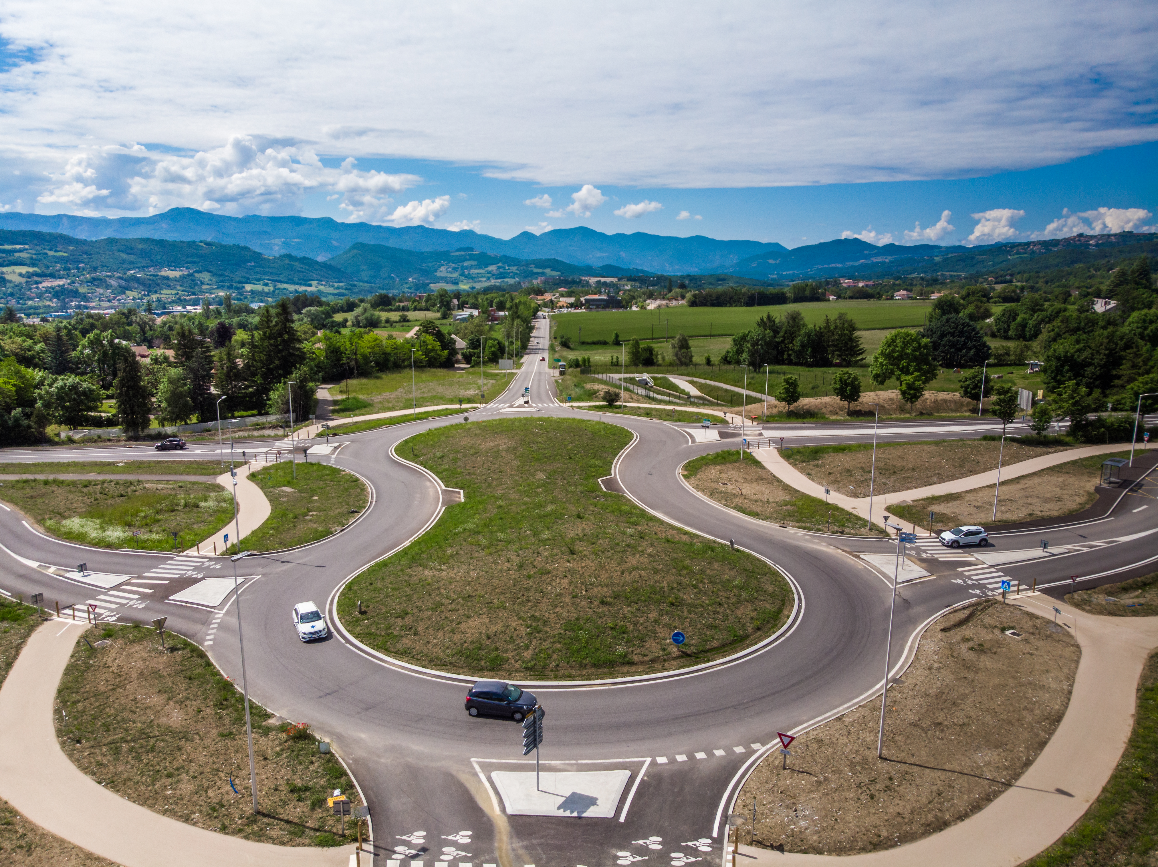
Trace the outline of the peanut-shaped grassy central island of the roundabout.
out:
M 413 436 L 411 460 L 466 499 L 356 578 L 338 598 L 342 622 L 391 656 L 525 679 L 680 668 L 778 629 L 792 593 L 775 570 L 600 487 L 630 440 L 614 425 L 547 418 Z

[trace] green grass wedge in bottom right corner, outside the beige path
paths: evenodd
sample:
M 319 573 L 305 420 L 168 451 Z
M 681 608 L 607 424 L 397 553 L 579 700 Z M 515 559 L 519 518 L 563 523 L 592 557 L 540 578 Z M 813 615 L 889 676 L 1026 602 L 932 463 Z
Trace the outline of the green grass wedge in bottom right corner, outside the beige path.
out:
M 1062 839 L 1023 867 L 1150 867 L 1158 845 L 1158 653 L 1138 682 L 1134 732 L 1122 758 Z

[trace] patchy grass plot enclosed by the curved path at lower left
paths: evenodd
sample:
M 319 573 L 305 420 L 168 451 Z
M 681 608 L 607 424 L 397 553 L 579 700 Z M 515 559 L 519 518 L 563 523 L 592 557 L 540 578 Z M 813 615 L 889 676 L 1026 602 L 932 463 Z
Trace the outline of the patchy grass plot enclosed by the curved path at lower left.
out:
M 100 634 L 109 644 L 78 642 L 57 691 L 57 737 L 81 771 L 133 803 L 206 830 L 281 846 L 343 842 L 325 796 L 340 788 L 357 801 L 357 789 L 337 758 L 318 751 L 308 726 L 262 722 L 267 712 L 250 703 L 261 809 L 254 815 L 235 685 L 179 635 L 166 635 L 166 652 L 152 629 Z

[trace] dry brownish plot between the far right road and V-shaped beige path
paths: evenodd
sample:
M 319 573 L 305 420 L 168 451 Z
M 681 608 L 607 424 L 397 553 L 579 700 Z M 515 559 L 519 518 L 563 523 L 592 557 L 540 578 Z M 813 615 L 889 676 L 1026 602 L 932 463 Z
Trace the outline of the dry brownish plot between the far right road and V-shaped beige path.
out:
M 872 444 L 806 446 L 783 450 L 784 460 L 813 482 L 828 485 L 849 497 L 868 495 L 872 470 Z M 997 469 L 999 442 L 983 440 L 945 440 L 877 446 L 877 476 L 873 492 L 878 494 L 911 491 L 915 487 L 975 476 Z M 1023 446 L 1005 441 L 1003 466 L 1032 457 L 1067 451 L 1069 447 Z M 1105 458 L 1102 458 L 1105 460 Z M 1003 485 L 1004 487 L 1004 485 Z M 990 507 L 992 494 L 990 494 Z

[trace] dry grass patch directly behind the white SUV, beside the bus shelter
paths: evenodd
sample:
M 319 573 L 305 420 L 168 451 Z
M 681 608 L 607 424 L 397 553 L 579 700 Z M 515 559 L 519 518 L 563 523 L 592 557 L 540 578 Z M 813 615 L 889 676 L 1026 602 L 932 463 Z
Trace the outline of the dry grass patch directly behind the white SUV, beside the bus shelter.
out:
M 997 523 L 1061 517 L 1089 507 L 1098 499 L 1094 488 L 1101 479 L 1101 462 L 1106 457 L 1083 457 L 1002 482 Z M 995 485 L 989 485 L 959 494 L 926 497 L 911 504 L 889 506 L 888 510 L 903 521 L 922 527 L 929 526 L 929 513 L 935 512 L 935 529 L 959 524 L 985 526 L 994 523 L 995 490 Z

